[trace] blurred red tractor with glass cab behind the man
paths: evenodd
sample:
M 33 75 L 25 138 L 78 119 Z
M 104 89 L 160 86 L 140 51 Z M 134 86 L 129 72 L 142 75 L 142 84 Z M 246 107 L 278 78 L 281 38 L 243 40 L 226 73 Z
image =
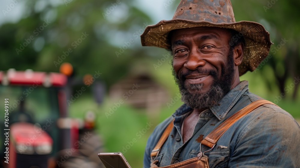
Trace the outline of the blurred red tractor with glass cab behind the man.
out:
M 0 71 L 0 83 L 2 167 L 101 166 L 95 158 L 101 141 L 93 124 L 87 128 L 68 117 L 66 91 L 71 89 L 65 74 L 10 69 Z M 94 114 L 87 115 L 93 123 Z

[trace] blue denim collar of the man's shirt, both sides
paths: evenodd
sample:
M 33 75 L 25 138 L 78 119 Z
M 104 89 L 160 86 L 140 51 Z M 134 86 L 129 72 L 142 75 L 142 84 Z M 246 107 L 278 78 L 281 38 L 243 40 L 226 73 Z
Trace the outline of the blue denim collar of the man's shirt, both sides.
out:
M 248 90 L 248 81 L 240 82 L 235 88 L 231 89 L 216 105 L 210 108 L 211 112 L 221 121 L 229 110 L 235 105 L 241 95 Z M 181 116 L 192 110 L 186 104 L 179 107 L 173 117 Z

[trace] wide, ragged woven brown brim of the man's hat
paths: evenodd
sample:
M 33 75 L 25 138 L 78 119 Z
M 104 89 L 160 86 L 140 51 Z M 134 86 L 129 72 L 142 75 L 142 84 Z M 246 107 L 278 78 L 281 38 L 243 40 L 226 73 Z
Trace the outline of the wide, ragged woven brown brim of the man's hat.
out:
M 186 19 L 162 20 L 156 25 L 146 27 L 144 33 L 141 35 L 141 42 L 143 46 L 157 46 L 170 49 L 171 45 L 167 40 L 170 31 L 201 26 L 233 29 L 240 32 L 236 38 L 244 36 L 245 46 L 243 61 L 238 66 L 240 76 L 248 70 L 251 72 L 255 70 L 260 62 L 268 56 L 268 52 L 272 44 L 269 32 L 267 32 L 261 24 L 250 21 L 212 23 Z

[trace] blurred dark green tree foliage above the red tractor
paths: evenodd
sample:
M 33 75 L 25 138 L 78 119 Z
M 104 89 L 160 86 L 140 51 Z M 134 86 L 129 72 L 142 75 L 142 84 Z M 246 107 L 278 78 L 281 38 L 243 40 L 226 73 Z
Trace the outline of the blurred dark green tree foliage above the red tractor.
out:
M 132 1 L 34 0 L 25 11 L 0 27 L 1 70 L 57 72 L 70 62 L 76 75 L 100 72 L 110 85 L 147 56 L 140 34 L 151 20 Z

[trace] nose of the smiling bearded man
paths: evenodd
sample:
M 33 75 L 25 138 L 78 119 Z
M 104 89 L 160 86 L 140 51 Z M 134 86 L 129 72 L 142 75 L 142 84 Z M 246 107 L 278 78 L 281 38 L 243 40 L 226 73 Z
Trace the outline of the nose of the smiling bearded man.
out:
M 184 63 L 184 67 L 190 70 L 196 70 L 199 66 L 205 65 L 205 60 L 203 60 L 202 53 L 196 50 L 191 50 L 187 56 L 187 60 Z

